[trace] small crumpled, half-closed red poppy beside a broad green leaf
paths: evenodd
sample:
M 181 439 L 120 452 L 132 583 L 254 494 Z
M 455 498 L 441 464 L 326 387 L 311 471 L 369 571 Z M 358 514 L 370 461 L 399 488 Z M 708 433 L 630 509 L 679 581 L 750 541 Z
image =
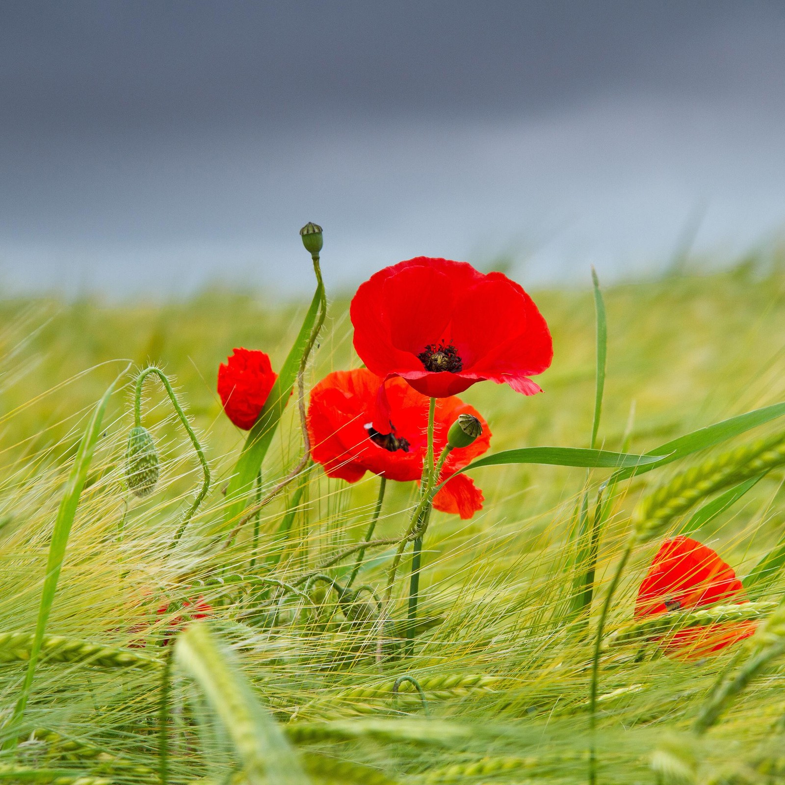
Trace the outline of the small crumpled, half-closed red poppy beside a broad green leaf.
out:
M 265 352 L 233 349 L 232 356 L 218 368 L 218 395 L 226 416 L 238 428 L 250 430 L 276 378 Z

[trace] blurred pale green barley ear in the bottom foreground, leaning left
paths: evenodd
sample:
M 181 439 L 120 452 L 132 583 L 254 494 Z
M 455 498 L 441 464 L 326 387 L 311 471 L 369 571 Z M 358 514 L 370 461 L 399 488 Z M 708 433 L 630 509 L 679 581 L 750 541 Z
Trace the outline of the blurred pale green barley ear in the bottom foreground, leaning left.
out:
M 174 655 L 224 725 L 251 785 L 307 785 L 309 780 L 283 732 L 204 623 L 188 626 L 177 638 Z

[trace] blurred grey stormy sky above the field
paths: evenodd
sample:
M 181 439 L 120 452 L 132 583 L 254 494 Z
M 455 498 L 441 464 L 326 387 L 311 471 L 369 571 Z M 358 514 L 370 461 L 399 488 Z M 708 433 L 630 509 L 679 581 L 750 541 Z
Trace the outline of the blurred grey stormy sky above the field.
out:
M 0 4 L 0 283 L 528 283 L 785 225 L 785 2 Z

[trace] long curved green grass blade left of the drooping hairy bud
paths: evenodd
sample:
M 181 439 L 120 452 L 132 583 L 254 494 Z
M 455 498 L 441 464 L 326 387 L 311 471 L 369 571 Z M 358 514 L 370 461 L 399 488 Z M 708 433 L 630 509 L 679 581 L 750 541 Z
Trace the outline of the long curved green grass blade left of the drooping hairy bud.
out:
M 122 374 L 119 374 L 115 381 L 109 385 L 107 391 L 104 392 L 104 396 L 93 409 L 93 414 L 87 423 L 82 440 L 79 442 L 74 466 L 71 469 L 70 476 L 68 476 L 68 484 L 65 487 L 60 508 L 57 510 L 57 520 L 55 520 L 52 531 L 52 540 L 49 542 L 46 578 L 44 579 L 44 587 L 41 593 L 41 602 L 38 605 L 38 620 L 35 623 L 35 637 L 33 638 L 33 645 L 30 651 L 30 662 L 27 664 L 27 673 L 24 675 L 19 697 L 16 699 L 16 706 L 13 709 L 13 715 L 10 720 L 11 725 L 15 725 L 22 719 L 24 710 L 27 707 L 27 700 L 30 697 L 35 677 L 35 667 L 38 664 L 38 655 L 41 653 L 44 633 L 46 633 L 46 623 L 49 621 L 49 613 L 52 610 L 55 593 L 57 593 L 57 580 L 60 578 L 60 568 L 63 566 L 68 537 L 71 535 L 71 525 L 74 523 L 76 509 L 79 506 L 79 497 L 82 495 L 82 488 L 87 479 L 90 463 L 93 461 L 93 451 L 100 434 L 101 422 L 104 419 L 104 412 L 111 393 L 115 390 L 115 385 L 127 371 L 128 368 L 122 371 Z

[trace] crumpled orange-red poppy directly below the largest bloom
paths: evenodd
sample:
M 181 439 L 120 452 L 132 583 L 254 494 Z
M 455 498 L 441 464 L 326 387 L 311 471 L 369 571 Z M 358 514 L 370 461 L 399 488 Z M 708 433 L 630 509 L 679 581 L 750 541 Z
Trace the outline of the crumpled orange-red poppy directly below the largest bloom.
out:
M 312 457 L 330 477 L 354 483 L 367 471 L 388 480 L 411 482 L 422 476 L 427 449 L 428 399 L 411 389 L 403 379 L 387 385 L 392 433 L 378 433 L 373 426 L 382 379 L 366 368 L 335 371 L 311 391 L 308 432 Z M 459 414 L 473 414 L 483 433 L 470 444 L 451 451 L 441 480 L 467 466 L 490 445 L 487 422 L 469 404 L 455 396 L 436 401 L 433 447 L 436 456 L 447 444 L 447 431 Z M 444 513 L 470 518 L 482 509 L 483 495 L 465 474 L 453 477 L 436 494 L 433 506 Z

